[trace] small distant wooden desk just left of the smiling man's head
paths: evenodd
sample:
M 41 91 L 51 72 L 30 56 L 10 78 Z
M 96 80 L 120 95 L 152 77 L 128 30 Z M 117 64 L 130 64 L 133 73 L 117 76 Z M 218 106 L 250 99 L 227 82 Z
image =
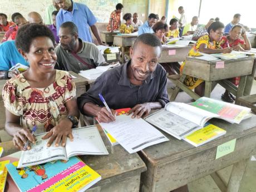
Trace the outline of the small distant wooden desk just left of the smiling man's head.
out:
M 137 36 L 114 35 L 113 45 L 121 47 L 122 63 L 125 63 L 125 47 L 131 47 Z

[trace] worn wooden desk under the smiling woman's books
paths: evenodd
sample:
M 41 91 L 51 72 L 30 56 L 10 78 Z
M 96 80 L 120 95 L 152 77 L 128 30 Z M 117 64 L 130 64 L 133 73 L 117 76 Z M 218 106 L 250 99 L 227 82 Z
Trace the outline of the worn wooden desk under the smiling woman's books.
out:
M 129 154 L 123 147 L 112 147 L 106 135 L 99 128 L 100 134 L 109 151 L 109 155 L 85 155 L 80 156 L 81 159 L 89 165 L 93 170 L 99 173 L 102 179 L 90 189 L 88 192 L 139 192 L 140 175 L 146 171 L 144 162 L 136 153 Z M 12 141 L 0 143 L 3 147 L 3 156 L 16 152 Z

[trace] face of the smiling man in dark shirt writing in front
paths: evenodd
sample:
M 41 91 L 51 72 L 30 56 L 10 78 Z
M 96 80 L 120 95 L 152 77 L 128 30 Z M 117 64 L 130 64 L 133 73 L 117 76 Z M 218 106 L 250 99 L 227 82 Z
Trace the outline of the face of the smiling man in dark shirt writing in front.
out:
M 160 47 L 151 47 L 142 42 L 130 48 L 131 71 L 135 80 L 145 81 L 155 71 L 160 54 Z

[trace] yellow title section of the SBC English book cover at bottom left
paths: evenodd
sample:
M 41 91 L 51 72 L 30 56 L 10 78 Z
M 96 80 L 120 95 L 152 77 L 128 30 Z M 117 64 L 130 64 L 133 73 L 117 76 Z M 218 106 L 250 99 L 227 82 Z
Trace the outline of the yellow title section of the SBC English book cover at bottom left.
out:
M 45 191 L 85 191 L 99 180 L 101 180 L 101 176 L 88 165 L 85 165 Z

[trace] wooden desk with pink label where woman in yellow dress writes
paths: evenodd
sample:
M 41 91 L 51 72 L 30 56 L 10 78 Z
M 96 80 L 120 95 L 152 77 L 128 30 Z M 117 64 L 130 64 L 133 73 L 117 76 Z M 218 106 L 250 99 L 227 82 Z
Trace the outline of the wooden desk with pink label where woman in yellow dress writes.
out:
M 215 68 L 218 61 L 204 61 L 198 58 L 186 58 L 186 64 L 183 68 L 183 75 L 176 81 L 176 88 L 170 97 L 174 101 L 178 95 L 179 88 L 188 93 L 193 99 L 199 99 L 199 95 L 186 87 L 183 82 L 185 77 L 193 76 L 205 81 L 204 96 L 210 97 L 211 90 L 215 87 L 216 83 L 230 91 L 237 98 L 250 94 L 252 89 L 256 62 L 254 57 L 240 58 L 237 60 L 227 60 L 224 68 Z M 236 87 L 228 81 L 228 78 L 241 77 L 239 86 Z

